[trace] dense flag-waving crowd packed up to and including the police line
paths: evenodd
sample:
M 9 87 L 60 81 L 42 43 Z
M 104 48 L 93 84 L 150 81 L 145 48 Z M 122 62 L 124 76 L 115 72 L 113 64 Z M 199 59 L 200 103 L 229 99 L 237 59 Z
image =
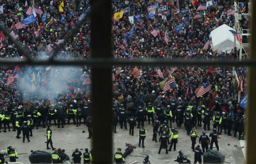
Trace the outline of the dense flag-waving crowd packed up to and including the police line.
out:
M 241 2 L 245 2 L 247 12 L 248 2 Z M 154 17 L 148 18 L 148 7 L 157 3 L 163 8 L 166 5 L 166 10 L 162 12 L 156 9 Z M 230 53 L 213 52 L 210 46 L 203 48 L 212 30 L 222 24 L 234 26 L 234 15 L 227 16 L 227 11 L 233 8 L 231 0 L 218 0 L 207 10 L 197 11 L 197 7 L 203 3 L 204 0 L 113 0 L 113 14 L 125 11 L 121 19 L 113 19 L 113 58 L 237 59 L 239 52 L 236 47 Z M 43 14 L 36 13 L 36 22 L 17 29 L 15 24 L 27 16 L 26 12 L 32 5 L 36 5 Z M 16 40 L 29 50 L 33 58 L 48 58 L 53 51 L 48 45 L 53 49 L 61 48 L 57 58 L 90 58 L 90 17 L 86 18 L 79 28 L 79 33 L 69 40 L 68 44 L 63 45 L 60 41 L 70 34 L 81 15 L 90 9 L 90 0 L 64 0 L 63 12 L 60 12 L 60 2 L 56 0 L 31 3 L 28 0 L 0 0 L 0 6 L 3 6 L 4 11 L 0 13 L 0 23 L 18 35 Z M 175 32 L 176 26 L 184 22 L 188 15 L 188 22 L 184 23 L 182 30 Z M 131 16 L 134 16 L 133 21 Z M 48 24 L 52 19 L 52 23 Z M 248 22 L 248 18 L 242 17 L 241 27 L 248 28 Z M 126 34 L 134 26 L 135 34 L 127 38 Z M 158 35 L 154 36 L 151 33 L 153 30 L 158 30 Z M 35 32 L 39 32 L 39 35 L 35 35 Z M 11 38 L 5 36 L 5 40 L 0 44 L 0 58 L 25 58 Z M 246 56 L 243 56 L 243 59 L 245 58 Z M 194 135 L 193 127 L 196 126 L 204 126 L 204 130 L 210 130 L 209 122 L 212 119 L 218 134 L 222 134 L 224 130 L 225 134 L 231 135 L 233 129 L 234 136 L 239 132 L 239 138 L 244 139 L 245 109 L 238 104 L 238 85 L 231 67 L 136 68 L 139 73 L 137 77 L 134 74 L 135 69 L 130 66 L 112 68 L 114 133 L 118 123 L 121 129 L 123 126 L 127 129 L 128 122 L 129 133 L 133 136 L 136 125 L 138 128 L 144 128 L 144 122 L 147 121 L 153 125 L 154 133 L 164 134 L 168 138 L 175 135 L 172 134 L 175 129 L 173 131 L 169 128 L 181 127 L 182 124 L 188 135 Z M 93 110 L 93 100 L 89 67 L 66 69 L 1 66 L 0 71 L 0 129 L 3 124 L 3 132 L 10 132 L 9 124 L 12 124 L 12 131 L 17 131 L 16 138 L 20 138 L 19 135 L 23 132 L 24 142 L 25 137 L 29 141 L 27 134 L 33 137 L 32 130 L 34 127 L 38 129 L 41 124 L 43 128 L 51 123 L 58 128 L 60 125 L 64 128 L 66 119 L 67 124 L 72 120 L 76 126 L 80 126 L 83 120 L 88 126 L 88 138 L 91 138 L 91 118 L 88 116 Z M 14 74 L 17 74 L 17 77 L 10 81 Z M 174 86 L 163 92 L 162 82 L 170 78 L 174 78 Z M 61 79 L 64 85 L 54 79 Z M 52 90 L 56 86 L 54 83 L 57 83 L 58 87 L 53 93 Z M 205 83 L 209 83 L 210 90 L 197 97 L 196 89 Z M 245 92 L 241 92 L 241 97 Z M 206 113 L 209 116 L 206 116 Z M 177 126 L 172 124 L 174 122 Z M 157 141 L 156 134 L 153 139 Z M 170 143 L 174 144 L 175 149 L 174 141 L 177 138 L 173 139 Z M 144 147 L 144 139 L 141 136 L 140 141 Z M 192 146 L 193 151 L 194 147 L 195 144 Z

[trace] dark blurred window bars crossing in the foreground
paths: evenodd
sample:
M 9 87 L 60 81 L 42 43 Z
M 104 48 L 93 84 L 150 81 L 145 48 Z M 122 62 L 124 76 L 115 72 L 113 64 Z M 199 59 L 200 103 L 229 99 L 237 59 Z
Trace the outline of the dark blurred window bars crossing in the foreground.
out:
M 101 11 L 101 12 L 97 12 Z M 112 131 L 111 131 L 111 98 L 112 98 L 112 78 L 111 67 L 113 65 L 148 65 L 148 66 L 186 66 L 186 65 L 202 65 L 202 66 L 249 66 L 248 84 L 256 83 L 256 30 L 252 27 L 256 26 L 256 3 L 252 1 L 252 18 L 251 18 L 251 58 L 246 61 L 208 61 L 208 60 L 164 60 L 164 59 L 144 59 L 144 60 L 114 60 L 111 56 L 111 1 L 93 0 L 91 8 L 91 50 L 92 58 L 87 60 L 56 60 L 54 56 L 59 49 L 54 50 L 53 56 L 49 60 L 33 60 L 29 52 L 22 45 L 14 40 L 14 44 L 19 48 L 20 52 L 26 55 L 25 60 L 0 60 L 0 65 L 89 65 L 92 66 L 92 93 L 93 93 L 93 159 L 97 164 L 112 163 Z M 76 34 L 79 26 L 84 22 L 85 18 L 72 30 L 71 35 L 64 39 L 64 43 Z M 10 31 L 0 25 L 0 29 L 5 35 L 11 37 Z M 102 69 L 104 68 L 104 69 Z M 255 130 L 256 110 L 254 110 L 253 99 L 256 93 L 256 85 L 248 85 L 249 101 L 247 113 L 247 149 L 246 163 L 254 164 L 256 156 L 253 149 L 256 147 Z M 103 99 L 98 99 L 101 95 Z M 161 162 L 160 162 L 161 163 Z

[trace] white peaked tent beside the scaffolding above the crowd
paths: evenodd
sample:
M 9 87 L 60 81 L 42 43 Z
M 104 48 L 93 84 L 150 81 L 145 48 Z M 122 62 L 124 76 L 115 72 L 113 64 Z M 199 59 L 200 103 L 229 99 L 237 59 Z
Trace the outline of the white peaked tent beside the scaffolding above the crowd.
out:
M 231 52 L 234 48 L 234 35 L 229 31 L 234 30 L 233 28 L 227 26 L 226 24 L 214 29 L 210 33 L 210 38 L 212 39 L 212 50 L 217 52 Z M 236 31 L 236 30 L 234 30 Z M 240 43 L 236 40 L 236 47 L 239 49 Z

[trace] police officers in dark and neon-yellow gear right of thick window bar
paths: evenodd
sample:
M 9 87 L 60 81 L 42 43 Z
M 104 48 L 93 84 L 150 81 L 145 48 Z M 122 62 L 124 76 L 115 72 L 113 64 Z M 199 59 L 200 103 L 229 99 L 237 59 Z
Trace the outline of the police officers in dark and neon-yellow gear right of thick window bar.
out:
M 125 109 L 123 104 L 120 104 L 119 106 L 113 105 L 112 130 L 116 133 L 118 122 L 120 123 L 121 129 L 123 129 L 123 127 L 127 129 L 128 122 L 129 134 L 133 136 L 133 130 L 137 125 L 137 128 L 139 129 L 139 147 L 142 144 L 142 148 L 144 148 L 144 139 L 146 138 L 147 133 L 147 130 L 144 129 L 144 124 L 145 122 L 147 124 L 152 124 L 152 140 L 160 142 L 158 154 L 161 154 L 162 149 L 165 149 L 165 153 L 168 154 L 168 151 L 172 151 L 172 149 L 173 151 L 176 151 L 179 137 L 176 128 L 181 128 L 181 125 L 184 124 L 187 135 L 191 138 L 191 149 L 195 152 L 195 163 L 197 161 L 201 163 L 201 156 L 203 153 L 209 148 L 212 149 L 214 144 L 217 151 L 219 151 L 218 136 L 222 135 L 222 133 L 231 136 L 232 128 L 234 130 L 234 137 L 236 137 L 236 133 L 239 132 L 239 140 L 244 140 L 244 114 L 241 113 L 240 116 L 235 116 L 234 118 L 232 114 L 223 110 L 215 110 L 216 106 L 219 106 L 218 101 L 215 101 L 214 110 L 206 108 L 201 104 L 195 104 L 196 102 L 189 103 L 185 106 L 181 103 L 181 98 L 179 98 L 178 101 L 173 99 L 170 105 L 166 105 L 166 108 L 163 108 L 164 105 L 162 104 L 156 105 L 155 102 L 154 105 L 149 102 L 146 104 L 146 108 L 142 107 L 143 104 L 138 106 L 136 103 L 135 105 L 130 104 L 128 109 Z M 213 129 L 208 136 L 206 130 L 211 130 L 211 121 L 213 122 Z M 173 125 L 174 123 L 176 123 L 176 125 Z M 174 128 L 174 126 L 176 127 Z M 197 126 L 203 126 L 204 130 L 202 134 L 197 132 Z M 201 144 L 202 149 L 200 149 L 200 145 L 196 145 L 197 140 L 199 141 L 199 144 Z M 170 147 L 168 148 L 169 144 Z M 114 159 L 116 163 L 124 162 L 120 148 L 114 155 Z M 148 156 L 145 157 L 145 160 L 145 163 L 150 163 Z M 175 161 L 178 163 L 190 163 L 190 160 L 187 159 L 187 156 L 183 155 L 182 151 L 179 151 L 179 156 Z

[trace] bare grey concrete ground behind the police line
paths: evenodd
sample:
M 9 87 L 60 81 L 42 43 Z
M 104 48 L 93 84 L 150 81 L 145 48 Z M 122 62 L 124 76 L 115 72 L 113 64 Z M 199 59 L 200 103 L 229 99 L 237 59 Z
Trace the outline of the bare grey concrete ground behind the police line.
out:
M 176 124 L 173 125 L 176 127 Z M 129 126 L 128 126 L 129 127 Z M 194 153 L 191 149 L 191 139 L 189 136 L 187 136 L 187 133 L 183 132 L 184 128 L 182 125 L 181 129 L 177 129 L 179 132 L 179 138 L 178 138 L 178 144 L 177 144 L 177 150 L 169 152 L 168 155 L 165 154 L 165 150 L 162 149 L 161 154 L 158 155 L 158 149 L 160 143 L 156 143 L 152 141 L 152 125 L 145 125 L 144 127 L 147 130 L 147 135 L 145 139 L 145 148 L 136 148 L 131 153 L 131 156 L 127 156 L 125 161 L 126 163 L 132 163 L 133 161 L 138 161 L 138 163 L 142 164 L 143 158 L 142 157 L 134 157 L 134 156 L 145 156 L 149 155 L 150 162 L 152 164 L 164 164 L 164 163 L 176 163 L 174 160 L 178 156 L 178 150 L 182 150 L 184 152 L 184 155 L 188 156 L 188 159 L 191 160 L 193 163 L 194 160 Z M 91 139 L 87 139 L 88 137 L 88 131 L 87 127 L 85 125 L 81 125 L 80 127 L 76 127 L 74 125 L 66 125 L 64 129 L 58 129 L 55 126 L 52 126 L 52 141 L 53 146 L 55 148 L 61 148 L 65 149 L 65 153 L 69 157 L 71 157 L 72 152 L 75 150 L 75 148 L 83 149 L 80 150 L 81 152 L 84 152 L 84 148 L 91 148 Z M 212 127 L 211 127 L 212 129 Z M 85 130 L 86 133 L 82 133 L 82 131 Z M 202 127 L 199 127 L 198 129 L 199 134 L 202 134 Z M 209 134 L 210 131 L 207 131 L 207 134 Z M 25 140 L 25 143 L 22 142 L 22 138 L 17 139 L 15 138 L 16 132 L 7 132 L 7 133 L 0 133 L 0 149 L 6 149 L 9 145 L 12 145 L 16 149 L 18 153 L 28 153 L 26 155 L 19 155 L 19 159 L 17 161 L 20 161 L 24 164 L 29 164 L 29 155 L 30 151 L 36 151 L 36 150 L 42 150 L 42 151 L 48 151 L 46 150 L 46 129 L 43 129 L 42 127 L 39 127 L 38 130 L 33 131 L 33 137 L 30 137 L 31 142 L 27 142 Z M 22 135 L 20 135 L 22 136 Z M 159 139 L 159 136 L 157 137 Z M 103 138 L 102 138 L 103 139 Z M 121 148 L 122 152 L 124 152 L 125 142 L 129 144 L 134 144 L 138 146 L 139 137 L 138 137 L 138 129 L 135 129 L 134 136 L 129 135 L 129 130 L 120 129 L 120 125 L 117 125 L 117 133 L 113 133 L 113 152 L 117 151 L 117 148 Z M 199 144 L 198 139 L 196 141 L 196 145 Z M 240 146 L 240 142 L 237 138 L 233 136 L 227 136 L 221 135 L 221 138 L 218 139 L 219 142 L 219 151 L 225 155 L 225 161 L 231 164 L 242 164 L 245 162 L 244 155 L 242 153 L 242 149 Z M 230 145 L 227 145 L 230 144 Z M 237 145 L 237 147 L 234 147 L 234 145 Z M 214 148 L 216 149 L 216 148 Z M 53 151 L 49 151 L 53 152 Z M 8 158 L 7 158 L 8 161 Z

